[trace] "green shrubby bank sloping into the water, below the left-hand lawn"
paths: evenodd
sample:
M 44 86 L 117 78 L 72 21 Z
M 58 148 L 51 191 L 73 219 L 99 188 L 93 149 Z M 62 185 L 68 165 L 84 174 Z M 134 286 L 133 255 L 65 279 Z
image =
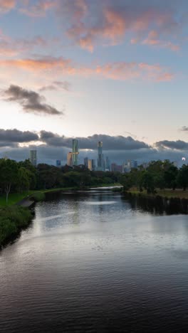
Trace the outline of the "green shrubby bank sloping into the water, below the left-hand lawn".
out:
M 0 208 L 0 248 L 31 222 L 31 211 L 21 206 Z

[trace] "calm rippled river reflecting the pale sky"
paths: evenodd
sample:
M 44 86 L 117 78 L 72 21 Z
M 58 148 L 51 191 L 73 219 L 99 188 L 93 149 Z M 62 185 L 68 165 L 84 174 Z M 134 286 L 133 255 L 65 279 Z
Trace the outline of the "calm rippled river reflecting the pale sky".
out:
M 0 332 L 187 332 L 188 220 L 112 191 L 36 204 L 0 253 Z

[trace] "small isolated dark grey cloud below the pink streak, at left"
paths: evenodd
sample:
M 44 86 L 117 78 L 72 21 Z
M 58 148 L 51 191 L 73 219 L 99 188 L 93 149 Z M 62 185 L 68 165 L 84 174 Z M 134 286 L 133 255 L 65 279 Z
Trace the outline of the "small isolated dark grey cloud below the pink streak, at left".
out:
M 45 103 L 45 97 L 39 95 L 33 90 L 26 90 L 18 85 L 10 85 L 4 91 L 6 101 L 18 102 L 24 112 L 31 112 L 36 115 L 62 115 L 63 112 L 58 111 L 55 107 Z

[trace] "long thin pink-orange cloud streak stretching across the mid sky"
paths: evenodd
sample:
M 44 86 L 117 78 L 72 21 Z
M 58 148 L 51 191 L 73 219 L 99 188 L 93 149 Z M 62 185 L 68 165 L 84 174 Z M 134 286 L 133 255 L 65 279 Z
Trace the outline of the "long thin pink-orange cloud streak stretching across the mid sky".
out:
M 43 57 L 0 60 L 0 67 L 14 68 L 15 70 L 31 70 L 41 72 L 63 73 L 64 75 L 79 75 L 81 77 L 98 77 L 112 80 L 150 80 L 155 82 L 170 81 L 174 78 L 169 68 L 159 64 L 115 62 L 95 66 L 79 66 L 71 59 Z

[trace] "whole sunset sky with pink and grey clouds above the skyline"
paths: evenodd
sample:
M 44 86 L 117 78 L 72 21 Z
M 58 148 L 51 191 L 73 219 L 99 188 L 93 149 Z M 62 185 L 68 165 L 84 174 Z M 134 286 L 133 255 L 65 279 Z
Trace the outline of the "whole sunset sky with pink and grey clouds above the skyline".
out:
M 187 0 L 0 0 L 0 157 L 187 157 Z

